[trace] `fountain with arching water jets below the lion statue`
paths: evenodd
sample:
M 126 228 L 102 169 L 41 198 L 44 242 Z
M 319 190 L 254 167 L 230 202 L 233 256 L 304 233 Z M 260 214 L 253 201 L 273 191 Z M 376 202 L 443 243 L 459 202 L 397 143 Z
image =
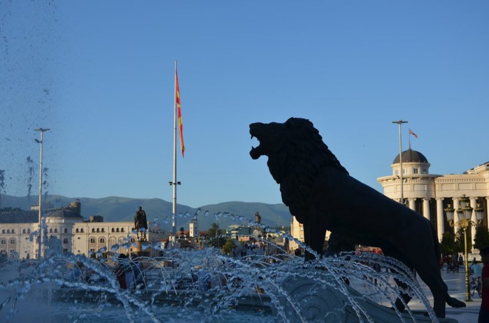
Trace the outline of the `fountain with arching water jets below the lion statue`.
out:
M 274 231 L 261 223 L 249 224 Z M 1 271 L 0 317 L 7 322 L 77 323 L 438 321 L 411 271 L 393 258 L 354 252 L 326 258 L 316 254 L 304 262 L 281 246 L 260 242 L 266 247 L 244 258 L 205 248 L 165 250 L 157 258 L 103 259 L 103 249 L 95 254 L 98 260 L 63 253 L 42 262 L 9 260 Z M 159 246 L 143 242 L 142 249 L 147 248 Z M 372 263 L 387 271 L 373 270 Z M 133 275 L 129 289 L 120 288 L 117 266 Z M 394 279 L 409 289 L 401 290 Z M 398 311 L 394 304 L 401 292 L 421 302 L 428 316 L 409 307 L 405 313 Z

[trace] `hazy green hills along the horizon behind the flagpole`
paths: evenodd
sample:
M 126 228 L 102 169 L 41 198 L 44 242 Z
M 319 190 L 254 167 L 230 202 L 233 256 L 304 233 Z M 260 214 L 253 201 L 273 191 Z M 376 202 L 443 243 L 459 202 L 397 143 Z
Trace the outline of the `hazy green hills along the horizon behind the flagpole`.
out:
M 125 197 L 110 196 L 99 199 L 86 198 L 86 197 L 65 197 L 60 195 L 48 195 L 46 198 L 47 203 L 51 203 L 54 207 L 66 207 L 76 199 L 80 199 L 82 203 L 82 216 L 88 218 L 90 215 L 102 215 L 104 221 L 133 221 L 134 213 L 138 206 L 141 206 L 146 211 L 148 221 L 154 221 L 158 218 L 160 227 L 171 231 L 171 203 L 162 199 L 133 199 Z M 10 195 L 1 196 L 1 208 L 20 208 L 23 210 L 30 210 L 31 205 L 37 205 L 39 196 L 32 195 L 30 197 L 16 197 Z M 44 204 L 44 203 L 43 203 Z M 180 227 L 184 227 L 185 230 L 189 228 L 189 222 L 193 215 L 196 214 L 197 209 L 201 209 L 198 215 L 200 230 L 207 230 L 210 224 L 217 222 L 214 214 L 225 212 L 234 215 L 242 215 L 246 220 L 239 221 L 235 216 L 235 220 L 231 219 L 231 216 L 219 217 L 219 226 L 224 228 L 230 224 L 242 224 L 247 223 L 247 220 L 254 220 L 255 213 L 258 211 L 261 215 L 261 222 L 265 225 L 276 227 L 290 226 L 292 216 L 288 212 L 288 208 L 284 204 L 266 204 L 266 203 L 248 203 L 248 202 L 223 202 L 219 204 L 204 205 L 200 208 L 191 208 L 186 205 L 177 204 L 177 230 Z M 205 211 L 208 211 L 209 215 L 204 216 Z M 188 212 L 190 216 L 185 216 Z M 164 223 L 164 219 L 167 219 L 168 223 Z

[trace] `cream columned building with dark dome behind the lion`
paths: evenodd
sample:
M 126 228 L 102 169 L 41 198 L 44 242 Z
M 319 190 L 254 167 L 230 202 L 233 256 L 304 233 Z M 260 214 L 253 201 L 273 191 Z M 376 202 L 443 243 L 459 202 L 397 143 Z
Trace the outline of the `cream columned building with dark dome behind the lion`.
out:
M 445 231 L 454 230 L 444 209 L 448 205 L 458 209 L 462 195 L 470 199 L 472 208 L 480 206 L 484 209 L 482 225 L 488 227 L 489 162 L 462 174 L 435 175 L 429 173 L 429 168 L 430 163 L 421 152 L 407 149 L 394 158 L 392 175 L 380 177 L 377 181 L 382 185 L 384 195 L 429 219 L 435 225 L 440 241 Z M 404 201 L 401 201 L 401 177 Z M 456 212 L 454 216 L 454 221 L 458 221 Z M 472 221 L 477 223 L 475 212 L 472 212 Z M 475 226 L 471 230 L 473 238 Z

